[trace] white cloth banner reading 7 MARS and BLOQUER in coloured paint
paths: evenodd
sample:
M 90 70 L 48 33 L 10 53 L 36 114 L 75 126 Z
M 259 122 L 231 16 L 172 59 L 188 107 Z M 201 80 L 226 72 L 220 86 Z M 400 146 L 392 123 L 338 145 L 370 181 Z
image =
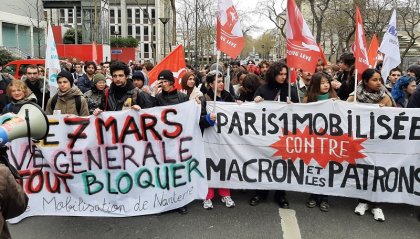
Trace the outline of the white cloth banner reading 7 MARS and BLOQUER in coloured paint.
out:
M 179 208 L 207 195 L 195 102 L 98 117 L 49 116 L 48 137 L 14 140 L 33 215 L 126 217 Z

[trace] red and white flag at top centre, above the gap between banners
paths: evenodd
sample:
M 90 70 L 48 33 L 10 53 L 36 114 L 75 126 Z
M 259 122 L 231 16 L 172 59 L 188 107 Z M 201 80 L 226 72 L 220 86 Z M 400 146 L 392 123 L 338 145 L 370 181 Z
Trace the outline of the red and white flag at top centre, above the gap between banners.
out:
M 235 59 L 244 48 L 239 16 L 232 0 L 219 0 L 217 13 L 217 49 Z

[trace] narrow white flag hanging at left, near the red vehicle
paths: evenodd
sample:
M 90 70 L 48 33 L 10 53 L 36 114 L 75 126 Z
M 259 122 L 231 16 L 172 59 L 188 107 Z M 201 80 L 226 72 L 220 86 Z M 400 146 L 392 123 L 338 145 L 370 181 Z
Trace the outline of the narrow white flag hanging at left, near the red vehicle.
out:
M 51 97 L 57 93 L 57 75 L 61 71 L 58 59 L 57 48 L 55 47 L 54 35 L 51 25 L 48 24 L 47 52 L 45 54 L 45 68 L 48 72 L 48 83 L 50 85 Z M 44 86 L 45 87 L 45 86 Z

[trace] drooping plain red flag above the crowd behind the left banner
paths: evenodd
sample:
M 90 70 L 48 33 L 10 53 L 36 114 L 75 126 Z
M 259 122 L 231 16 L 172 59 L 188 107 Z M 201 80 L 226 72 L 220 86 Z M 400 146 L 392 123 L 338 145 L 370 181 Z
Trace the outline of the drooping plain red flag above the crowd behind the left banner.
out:
M 181 79 L 185 74 L 186 66 L 184 48 L 179 45 L 149 72 L 149 84 L 156 81 L 161 71 L 170 70 L 175 77 L 175 87 L 180 90 Z

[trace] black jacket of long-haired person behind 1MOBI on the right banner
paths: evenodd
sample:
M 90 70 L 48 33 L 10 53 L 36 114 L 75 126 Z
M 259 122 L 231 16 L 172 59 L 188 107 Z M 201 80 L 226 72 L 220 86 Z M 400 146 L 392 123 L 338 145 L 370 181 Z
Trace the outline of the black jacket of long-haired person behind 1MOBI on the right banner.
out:
M 289 96 L 288 87 L 288 83 L 279 84 L 276 82 L 270 82 L 269 84 L 261 85 L 255 91 L 254 99 L 257 96 L 261 96 L 264 100 L 276 100 L 276 97 L 280 96 L 280 101 L 286 102 L 287 97 Z M 290 100 L 294 103 L 299 103 L 299 96 L 296 86 L 292 85 L 290 88 Z

